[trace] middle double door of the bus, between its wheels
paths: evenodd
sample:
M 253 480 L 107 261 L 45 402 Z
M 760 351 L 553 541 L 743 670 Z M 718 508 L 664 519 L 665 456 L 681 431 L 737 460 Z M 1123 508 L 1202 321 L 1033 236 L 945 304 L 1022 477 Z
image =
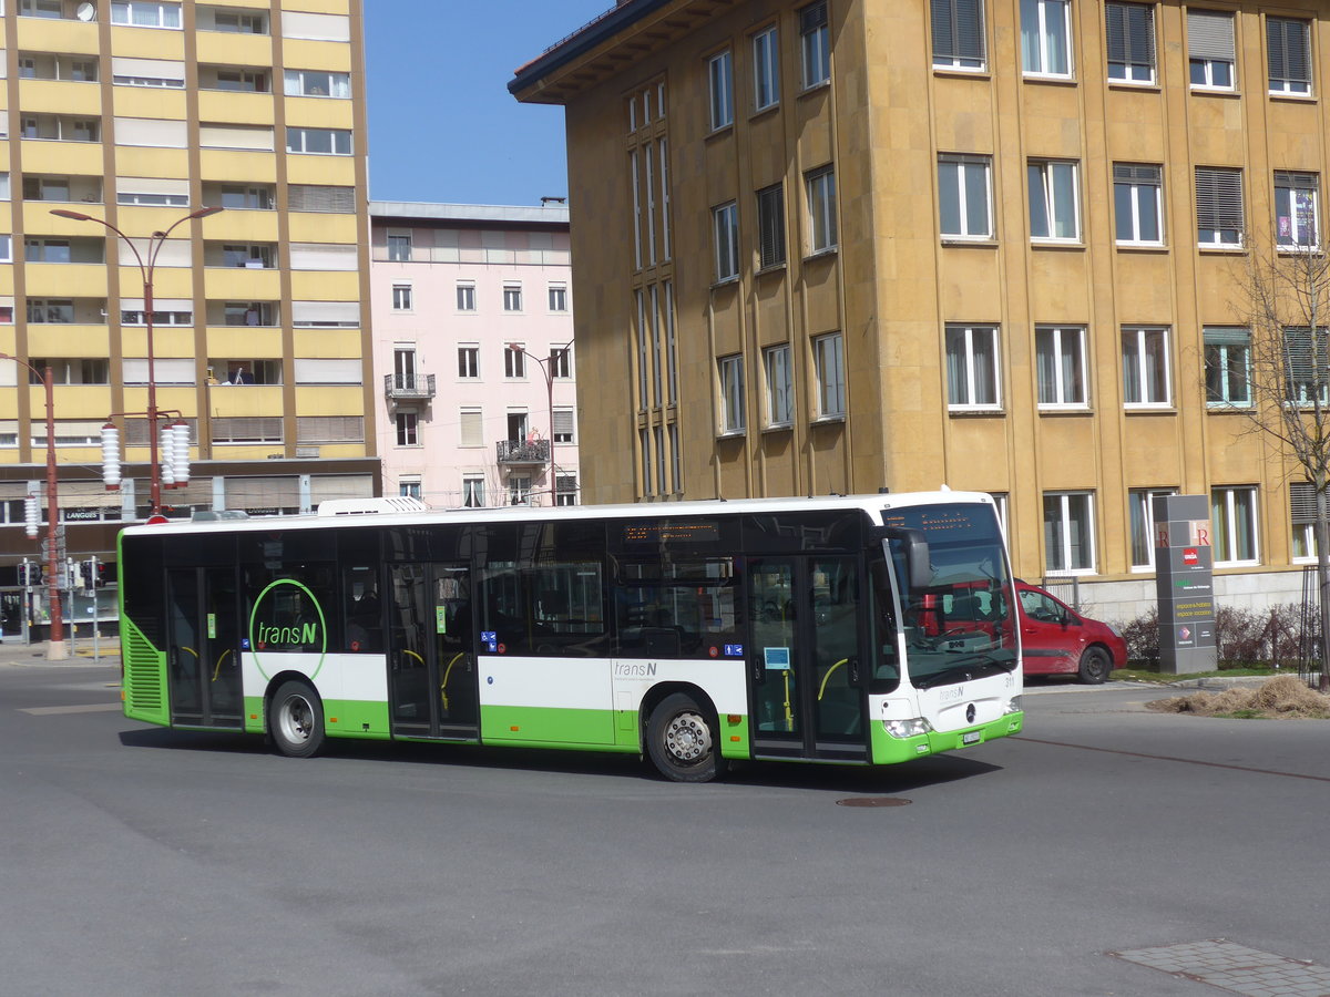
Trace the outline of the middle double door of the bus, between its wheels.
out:
M 392 732 L 475 740 L 480 732 L 471 565 L 388 566 Z

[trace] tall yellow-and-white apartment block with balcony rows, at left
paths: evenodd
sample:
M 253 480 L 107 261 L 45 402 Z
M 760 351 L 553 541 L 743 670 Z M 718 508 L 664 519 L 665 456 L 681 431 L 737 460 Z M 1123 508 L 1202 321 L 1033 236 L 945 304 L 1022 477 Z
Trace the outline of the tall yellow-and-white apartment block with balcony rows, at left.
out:
M 149 382 L 190 433 L 165 514 L 374 495 L 360 0 L 4 0 L 0 25 L 0 354 L 53 371 L 69 557 L 149 510 Z M 33 376 L 0 359 L 0 586 L 37 556 Z

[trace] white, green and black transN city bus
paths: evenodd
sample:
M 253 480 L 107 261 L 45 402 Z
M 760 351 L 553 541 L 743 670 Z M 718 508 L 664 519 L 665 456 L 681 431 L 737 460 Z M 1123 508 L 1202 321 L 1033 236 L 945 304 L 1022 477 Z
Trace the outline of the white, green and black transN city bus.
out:
M 1011 572 L 982 493 L 132 526 L 125 715 L 265 734 L 890 764 L 1015 734 Z

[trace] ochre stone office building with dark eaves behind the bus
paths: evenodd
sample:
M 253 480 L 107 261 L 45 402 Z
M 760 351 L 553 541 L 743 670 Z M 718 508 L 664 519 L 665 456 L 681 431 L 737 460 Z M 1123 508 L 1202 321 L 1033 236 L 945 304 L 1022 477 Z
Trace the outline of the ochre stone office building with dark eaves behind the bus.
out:
M 517 70 L 565 108 L 588 502 L 994 493 L 1016 570 L 1301 597 L 1305 484 L 1244 435 L 1253 246 L 1319 245 L 1325 4 L 624 0 Z

